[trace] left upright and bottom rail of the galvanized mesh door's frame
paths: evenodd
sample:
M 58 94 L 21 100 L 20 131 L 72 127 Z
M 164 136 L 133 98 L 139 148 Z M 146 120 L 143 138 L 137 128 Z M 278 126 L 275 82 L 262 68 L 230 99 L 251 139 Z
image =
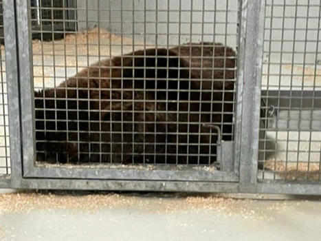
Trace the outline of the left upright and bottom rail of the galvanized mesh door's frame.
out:
M 23 76 L 21 81 L 21 112 L 22 138 L 23 138 L 23 176 L 25 178 L 85 178 L 107 180 L 183 180 L 208 182 L 236 182 L 239 180 L 238 169 L 235 171 L 205 171 L 199 169 L 122 169 L 107 167 L 81 167 L 72 168 L 63 166 L 38 167 L 35 166 L 35 137 L 34 137 L 34 102 L 32 77 L 32 43 L 31 26 L 28 16 L 27 1 L 18 1 L 16 5 L 16 19 L 19 44 L 19 66 Z M 245 19 L 246 20 L 246 19 Z M 28 39 L 29 41 L 20 41 Z M 27 103 L 27 105 L 26 105 Z

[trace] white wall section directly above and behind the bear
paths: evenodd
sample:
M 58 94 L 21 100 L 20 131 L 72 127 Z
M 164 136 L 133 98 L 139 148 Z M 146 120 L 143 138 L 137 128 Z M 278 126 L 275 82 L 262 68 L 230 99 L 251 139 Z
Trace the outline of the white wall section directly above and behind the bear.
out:
M 100 27 L 134 37 L 135 41 L 144 41 L 146 36 L 151 44 L 176 45 L 203 40 L 236 46 L 238 0 L 90 0 L 88 15 L 86 0 L 78 0 L 78 9 L 79 30 L 93 28 L 98 24 L 99 16 Z M 214 9 L 217 9 L 216 14 Z M 227 9 L 231 12 L 227 13 Z M 193 10 L 192 14 L 190 10 Z

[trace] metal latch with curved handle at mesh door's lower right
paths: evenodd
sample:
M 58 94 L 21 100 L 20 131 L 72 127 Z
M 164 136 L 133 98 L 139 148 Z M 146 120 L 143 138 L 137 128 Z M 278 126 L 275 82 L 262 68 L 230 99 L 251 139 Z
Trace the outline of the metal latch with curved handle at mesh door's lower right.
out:
M 222 140 L 221 128 L 218 125 L 204 123 L 203 127 L 209 127 L 217 132 L 217 163 L 222 171 L 233 171 L 234 169 L 234 141 Z

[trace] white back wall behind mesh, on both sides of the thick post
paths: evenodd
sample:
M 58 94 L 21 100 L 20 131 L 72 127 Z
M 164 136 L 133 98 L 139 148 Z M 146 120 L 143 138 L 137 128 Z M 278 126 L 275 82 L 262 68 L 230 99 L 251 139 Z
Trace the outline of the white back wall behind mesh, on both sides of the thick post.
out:
M 88 2 L 88 14 L 85 11 L 86 1 Z M 283 52 L 293 50 L 309 52 L 305 56 L 295 54 L 294 59 L 299 63 L 303 62 L 304 57 L 307 64 L 315 63 L 316 54 L 319 55 L 317 59 L 321 59 L 321 41 L 317 42 L 318 28 L 320 28 L 318 27 L 320 0 L 310 0 L 309 8 L 307 0 L 299 0 L 298 8 L 295 7 L 296 0 L 274 0 L 273 8 L 271 7 L 272 0 L 263 1 L 266 1 L 267 5 L 265 28 L 272 27 L 273 29 L 272 31 L 265 30 L 265 38 L 273 40 L 272 51 L 280 52 L 281 40 L 285 40 L 282 47 Z M 160 45 L 201 41 L 203 32 L 204 41 L 222 42 L 235 47 L 238 2 L 238 0 L 77 0 L 78 26 L 79 30 L 87 27 L 93 28 L 98 24 L 99 19 L 100 27 L 110 32 L 122 34 L 125 37 L 134 37 L 135 41 L 143 41 L 146 36 L 148 43 L 157 42 Z M 170 3 L 169 6 L 168 3 Z M 170 10 L 169 15 L 168 9 Z M 180 15 L 179 9 L 181 9 Z M 203 9 L 208 12 L 202 13 Z M 217 10 L 216 16 L 211 11 L 214 9 Z M 144 10 L 146 10 L 146 15 L 144 15 Z M 192 15 L 190 10 L 193 10 Z M 226 13 L 226 10 L 232 10 L 232 12 Z M 281 18 L 283 14 L 286 16 L 284 19 Z M 307 16 L 309 16 L 308 20 Z M 86 23 L 87 18 L 89 23 Z M 145 18 L 146 25 L 143 23 Z M 178 23 L 179 19 L 180 23 Z M 225 24 L 227 21 L 228 24 Z M 203 27 L 201 22 L 205 22 Z M 283 25 L 284 32 L 280 30 Z M 294 30 L 295 27 L 296 30 Z M 181 33 L 180 39 L 178 39 L 179 32 Z M 233 36 L 228 35 L 225 39 L 226 33 Z M 294 34 L 296 34 L 295 37 Z M 307 45 L 305 45 L 306 37 Z M 321 31 L 319 31 L 319 38 L 321 39 Z M 294 40 L 296 41 L 295 46 Z M 317 45 L 319 45 L 318 53 L 316 53 Z M 265 50 L 269 50 L 269 42 L 265 42 Z M 292 57 L 291 53 L 285 53 L 283 61 L 291 61 Z M 280 54 L 271 54 L 271 58 L 278 61 Z M 268 54 L 265 54 L 265 60 L 267 59 Z

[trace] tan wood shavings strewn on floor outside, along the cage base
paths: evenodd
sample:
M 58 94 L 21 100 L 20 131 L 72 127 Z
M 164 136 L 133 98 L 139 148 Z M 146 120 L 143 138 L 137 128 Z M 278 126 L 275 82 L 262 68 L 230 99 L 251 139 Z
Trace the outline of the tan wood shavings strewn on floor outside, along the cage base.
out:
M 298 202 L 300 203 L 300 202 Z M 76 191 L 42 191 L 41 193 L 8 193 L 0 195 L 0 213 L 30 212 L 37 209 L 74 209 L 96 211 L 102 208 L 135 207 L 152 213 L 213 212 L 220 216 L 244 219 L 268 219 L 269 212 L 281 212 L 289 206 L 283 201 L 273 205 L 264 200 L 236 199 L 222 196 L 184 196 L 179 193 L 81 193 Z M 266 212 L 266 210 L 269 212 Z

